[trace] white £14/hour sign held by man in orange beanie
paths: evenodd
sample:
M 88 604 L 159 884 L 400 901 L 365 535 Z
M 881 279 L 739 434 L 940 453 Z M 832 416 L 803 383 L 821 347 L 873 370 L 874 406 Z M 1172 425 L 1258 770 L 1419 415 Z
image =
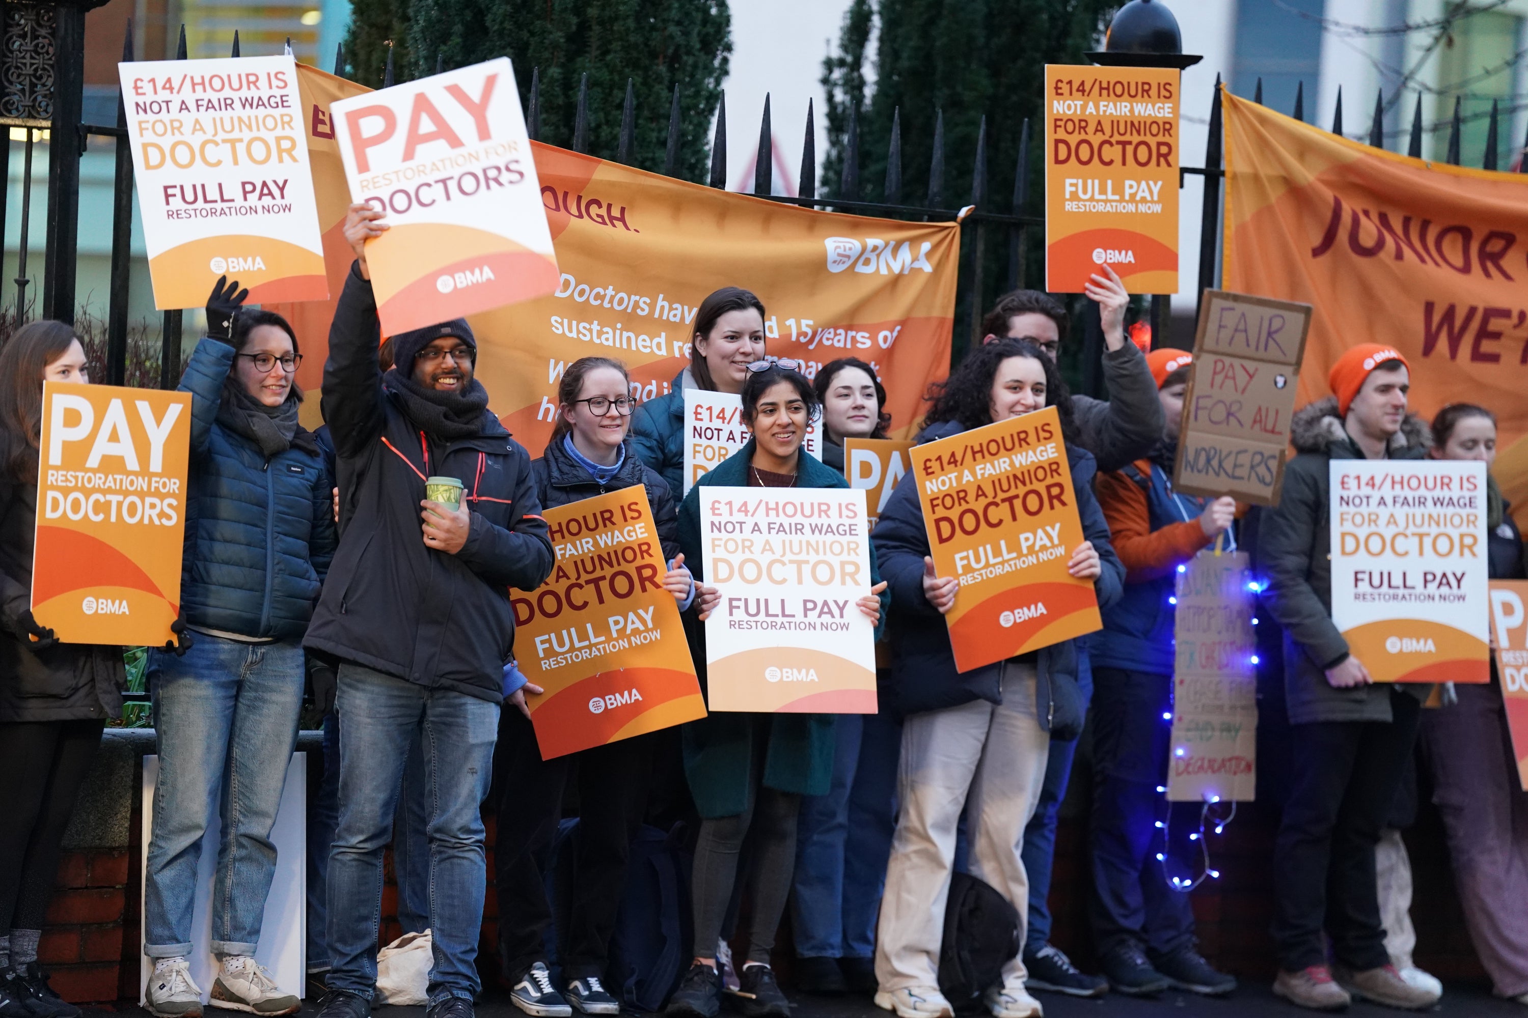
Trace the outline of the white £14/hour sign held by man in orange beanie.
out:
M 1331 461 L 1332 623 L 1375 682 L 1490 682 L 1485 464 Z

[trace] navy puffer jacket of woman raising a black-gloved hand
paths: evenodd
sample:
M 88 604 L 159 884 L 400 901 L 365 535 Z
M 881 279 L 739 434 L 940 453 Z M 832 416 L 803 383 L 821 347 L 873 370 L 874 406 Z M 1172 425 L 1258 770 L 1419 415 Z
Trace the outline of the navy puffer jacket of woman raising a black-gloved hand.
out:
M 234 348 L 197 343 L 180 379 L 191 394 L 180 604 L 186 624 L 298 639 L 335 554 L 333 481 L 312 437 L 266 459 L 217 423 Z

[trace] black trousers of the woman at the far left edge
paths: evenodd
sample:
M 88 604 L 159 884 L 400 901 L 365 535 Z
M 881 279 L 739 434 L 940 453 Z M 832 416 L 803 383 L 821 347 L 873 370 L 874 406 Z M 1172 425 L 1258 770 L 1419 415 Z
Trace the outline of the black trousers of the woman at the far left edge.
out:
M 0 821 L 0 936 L 43 928 L 58 849 L 102 728 L 105 722 L 89 719 L 0 725 L 9 798 Z

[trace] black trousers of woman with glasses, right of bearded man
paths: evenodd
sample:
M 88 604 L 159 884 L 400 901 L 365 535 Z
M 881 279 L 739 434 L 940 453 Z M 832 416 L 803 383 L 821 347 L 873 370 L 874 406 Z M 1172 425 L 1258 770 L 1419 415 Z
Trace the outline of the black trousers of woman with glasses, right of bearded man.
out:
M 578 781 L 579 824 L 571 839 L 570 900 L 559 910 L 567 916 L 567 929 L 558 931 L 562 975 L 604 978 L 631 838 L 646 807 L 651 757 L 652 740 L 636 736 L 542 760 L 530 722 L 513 705 L 504 705 L 494 757 L 498 789 L 494 882 L 500 952 L 510 981 L 547 955 L 545 934 L 553 916 L 544 864 L 562 818 L 570 774 Z

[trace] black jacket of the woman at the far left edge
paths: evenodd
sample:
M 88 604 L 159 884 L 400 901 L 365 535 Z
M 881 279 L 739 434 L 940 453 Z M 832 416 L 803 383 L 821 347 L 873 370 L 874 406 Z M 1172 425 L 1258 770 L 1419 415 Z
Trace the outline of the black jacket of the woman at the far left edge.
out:
M 112 719 L 122 713 L 122 649 L 21 646 L 15 621 L 32 607 L 37 482 L 0 478 L 0 723 Z

